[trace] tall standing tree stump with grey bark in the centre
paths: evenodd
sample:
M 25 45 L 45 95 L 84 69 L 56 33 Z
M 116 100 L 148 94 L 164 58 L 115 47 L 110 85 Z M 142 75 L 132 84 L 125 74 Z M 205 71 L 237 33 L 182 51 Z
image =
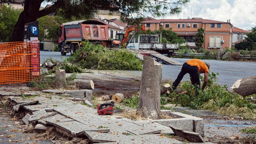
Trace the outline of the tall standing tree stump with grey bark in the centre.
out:
M 137 114 L 145 118 L 162 119 L 160 102 L 160 85 L 162 65 L 155 64 L 153 58 L 143 56 L 140 96 Z

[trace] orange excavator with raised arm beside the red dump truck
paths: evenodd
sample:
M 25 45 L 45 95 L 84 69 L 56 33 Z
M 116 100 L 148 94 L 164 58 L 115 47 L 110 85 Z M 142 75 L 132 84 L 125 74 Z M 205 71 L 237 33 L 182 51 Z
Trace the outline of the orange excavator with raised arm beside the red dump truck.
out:
M 122 43 L 127 43 L 127 41 L 129 40 L 129 34 L 132 31 L 146 31 L 145 25 L 142 24 L 141 27 L 140 26 L 132 26 L 129 27 L 125 34 L 124 33 L 117 33 L 116 34 L 116 40 L 113 40 L 113 44 L 115 46 L 120 46 Z

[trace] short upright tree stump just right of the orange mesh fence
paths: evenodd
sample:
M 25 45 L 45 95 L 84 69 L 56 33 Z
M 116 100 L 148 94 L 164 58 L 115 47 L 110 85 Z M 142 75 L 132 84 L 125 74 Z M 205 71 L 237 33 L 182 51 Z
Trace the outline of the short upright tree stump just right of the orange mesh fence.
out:
M 55 68 L 56 85 L 60 88 L 67 88 L 66 73 L 64 69 Z

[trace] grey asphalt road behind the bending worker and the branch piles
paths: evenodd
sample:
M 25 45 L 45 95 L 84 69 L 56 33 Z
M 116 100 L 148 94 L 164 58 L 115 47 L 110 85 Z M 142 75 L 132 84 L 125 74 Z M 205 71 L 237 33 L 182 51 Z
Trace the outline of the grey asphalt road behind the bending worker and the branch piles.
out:
M 46 58 L 55 58 L 62 60 L 60 52 L 40 51 L 40 61 L 43 62 Z M 68 58 L 65 56 L 63 58 Z M 185 63 L 187 58 L 174 58 L 175 60 Z M 256 75 L 256 62 L 237 62 L 237 61 L 220 61 L 220 60 L 204 60 L 211 64 L 210 72 L 219 73 L 219 84 L 227 84 L 231 87 L 234 82 L 243 77 Z M 163 65 L 163 79 L 176 79 L 182 66 Z M 186 74 L 183 80 L 189 77 Z

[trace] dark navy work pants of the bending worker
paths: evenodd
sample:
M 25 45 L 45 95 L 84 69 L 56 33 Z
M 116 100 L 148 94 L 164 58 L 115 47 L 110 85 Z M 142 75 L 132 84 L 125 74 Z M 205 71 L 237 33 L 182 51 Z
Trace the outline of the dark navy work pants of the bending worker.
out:
M 182 80 L 183 76 L 187 73 L 190 75 L 190 80 L 192 85 L 194 85 L 195 87 L 198 85 L 199 86 L 198 88 L 200 88 L 200 78 L 199 78 L 198 68 L 196 66 L 190 66 L 187 63 L 183 64 L 177 79 L 173 82 L 173 87 L 176 88 L 179 85 L 180 81 Z M 196 90 L 196 95 L 198 95 L 197 90 Z

